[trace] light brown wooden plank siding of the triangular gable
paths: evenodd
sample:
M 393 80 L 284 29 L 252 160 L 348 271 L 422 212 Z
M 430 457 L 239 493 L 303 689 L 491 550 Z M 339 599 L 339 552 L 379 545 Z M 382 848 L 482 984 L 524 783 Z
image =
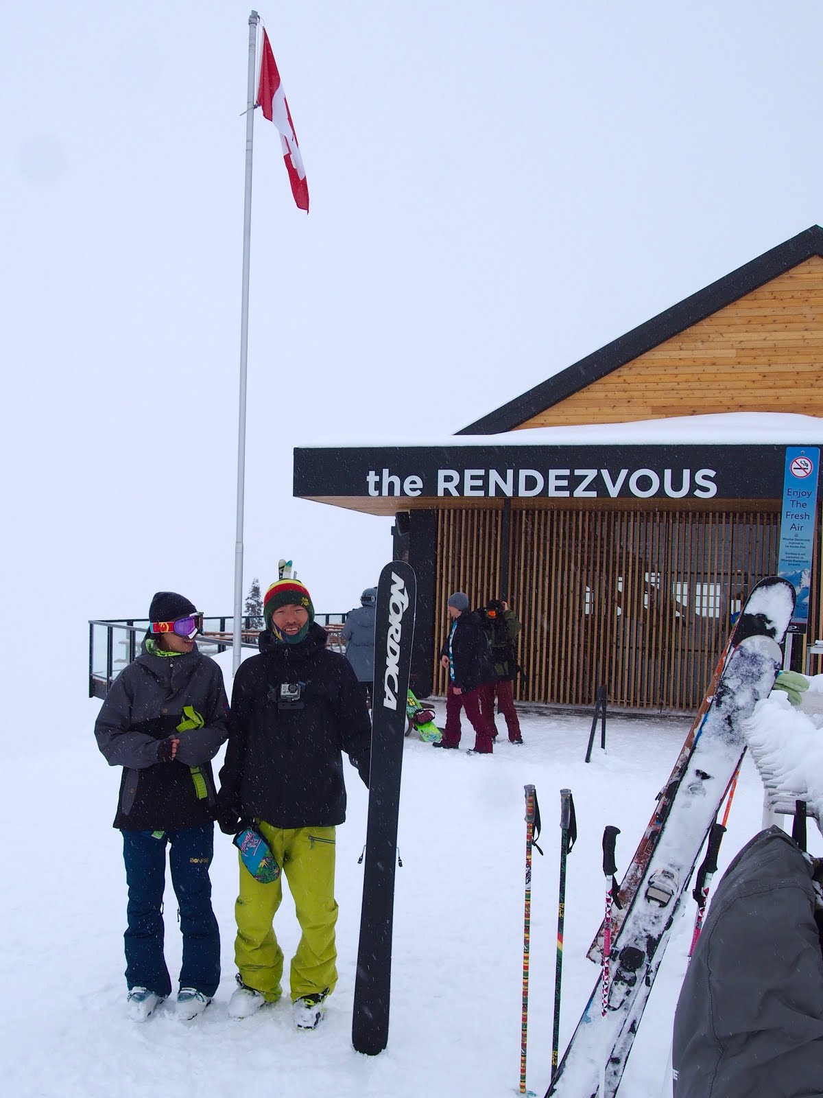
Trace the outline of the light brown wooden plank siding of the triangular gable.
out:
M 823 258 L 813 256 L 520 424 L 715 412 L 823 416 Z

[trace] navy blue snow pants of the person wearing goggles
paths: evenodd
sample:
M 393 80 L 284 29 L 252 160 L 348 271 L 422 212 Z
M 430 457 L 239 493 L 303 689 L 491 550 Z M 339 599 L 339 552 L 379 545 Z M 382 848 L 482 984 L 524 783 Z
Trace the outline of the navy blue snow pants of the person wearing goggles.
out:
M 214 825 L 179 831 L 123 831 L 123 861 L 128 885 L 126 983 L 171 995 L 162 954 L 162 894 L 166 887 L 166 844 L 169 843 L 171 884 L 183 935 L 180 987 L 213 996 L 221 978 L 221 940 L 212 910 L 208 866 L 214 853 Z M 160 838 L 156 838 L 160 834 Z

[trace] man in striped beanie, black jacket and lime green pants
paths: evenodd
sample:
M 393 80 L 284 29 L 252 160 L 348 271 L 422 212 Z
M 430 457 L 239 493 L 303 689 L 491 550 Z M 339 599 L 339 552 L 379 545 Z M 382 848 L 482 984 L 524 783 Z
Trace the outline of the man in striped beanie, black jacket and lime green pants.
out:
M 340 752 L 368 786 L 371 722 L 357 675 L 326 647 L 300 581 L 273 583 L 263 617 L 260 654 L 235 676 L 217 819 L 227 834 L 253 824 L 282 866 L 302 929 L 290 973 L 294 1019 L 314 1029 L 337 983 L 335 828 L 346 819 Z M 240 863 L 233 1018 L 281 997 L 283 952 L 272 926 L 281 899 L 282 875 L 261 883 Z

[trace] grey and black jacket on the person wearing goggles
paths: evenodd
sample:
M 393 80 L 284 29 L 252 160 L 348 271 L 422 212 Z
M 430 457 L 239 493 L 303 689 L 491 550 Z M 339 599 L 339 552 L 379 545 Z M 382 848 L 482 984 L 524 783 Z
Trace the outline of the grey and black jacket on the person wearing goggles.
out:
M 177 732 L 190 705 L 203 728 Z M 179 738 L 173 762 L 158 762 L 160 741 Z M 215 786 L 210 760 L 228 736 L 223 672 L 196 647 L 181 656 L 140 654 L 114 680 L 94 725 L 98 747 L 111 766 L 122 766 L 114 827 L 126 831 L 173 831 L 214 819 Z M 199 766 L 206 797 L 199 798 L 191 768 Z

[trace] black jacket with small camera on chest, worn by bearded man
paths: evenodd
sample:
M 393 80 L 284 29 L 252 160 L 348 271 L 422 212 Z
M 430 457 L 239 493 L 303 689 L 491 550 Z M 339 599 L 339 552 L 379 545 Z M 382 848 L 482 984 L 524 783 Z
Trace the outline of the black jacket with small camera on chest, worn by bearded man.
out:
M 260 649 L 235 675 L 221 822 L 236 816 L 282 828 L 342 824 L 341 751 L 369 784 L 371 722 L 357 675 L 326 648 L 316 623 L 297 645 L 263 634 Z

